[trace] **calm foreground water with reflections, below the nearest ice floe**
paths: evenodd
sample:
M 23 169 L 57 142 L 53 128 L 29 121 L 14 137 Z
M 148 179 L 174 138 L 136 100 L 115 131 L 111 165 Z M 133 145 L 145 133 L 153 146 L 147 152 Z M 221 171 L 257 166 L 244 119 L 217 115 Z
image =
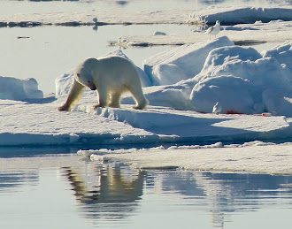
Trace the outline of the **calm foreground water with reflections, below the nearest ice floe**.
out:
M 0 158 L 0 228 L 289 228 L 292 176 Z

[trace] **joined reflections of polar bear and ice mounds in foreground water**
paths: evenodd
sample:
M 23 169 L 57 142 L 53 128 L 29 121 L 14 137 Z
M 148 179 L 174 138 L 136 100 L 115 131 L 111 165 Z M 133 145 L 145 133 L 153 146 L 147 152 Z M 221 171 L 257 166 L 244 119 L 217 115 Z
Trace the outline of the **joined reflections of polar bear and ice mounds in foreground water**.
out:
M 178 203 L 193 214 L 209 215 L 211 227 L 224 228 L 233 222 L 234 212 L 250 212 L 265 207 L 292 207 L 291 176 L 213 172 L 139 171 L 125 164 L 88 164 L 84 171 L 62 168 L 79 202 L 81 215 L 96 221 L 119 223 L 149 204 L 149 196 L 167 199 L 162 211 L 179 213 Z M 286 184 L 286 185 L 285 185 Z M 159 201 L 156 202 L 158 209 Z M 153 209 L 154 210 L 154 209 Z M 156 210 L 154 210 L 156 211 Z M 144 217 L 149 214 L 146 213 Z M 130 220 L 130 221 L 131 221 Z M 154 218 L 152 218 L 154 220 Z M 126 221 L 128 222 L 128 221 Z M 188 225 L 188 222 L 185 222 Z M 129 228 L 129 227 L 128 227 Z

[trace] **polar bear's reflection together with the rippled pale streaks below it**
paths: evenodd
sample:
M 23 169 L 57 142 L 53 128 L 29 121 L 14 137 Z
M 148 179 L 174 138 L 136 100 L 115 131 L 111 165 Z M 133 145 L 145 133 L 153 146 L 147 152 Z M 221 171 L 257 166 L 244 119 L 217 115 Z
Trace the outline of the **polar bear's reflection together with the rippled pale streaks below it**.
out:
M 86 218 L 122 219 L 138 209 L 146 172 L 125 164 L 87 164 L 83 171 L 61 168 L 70 182 L 81 215 Z

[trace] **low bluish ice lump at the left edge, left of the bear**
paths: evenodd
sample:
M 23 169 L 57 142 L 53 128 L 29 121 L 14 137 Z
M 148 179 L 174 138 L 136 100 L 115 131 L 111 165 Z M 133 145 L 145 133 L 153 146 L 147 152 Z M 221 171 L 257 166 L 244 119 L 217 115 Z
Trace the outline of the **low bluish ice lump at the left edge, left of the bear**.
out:
M 43 93 L 38 89 L 38 83 L 34 78 L 19 80 L 0 76 L 0 99 L 25 101 L 41 98 L 43 98 Z

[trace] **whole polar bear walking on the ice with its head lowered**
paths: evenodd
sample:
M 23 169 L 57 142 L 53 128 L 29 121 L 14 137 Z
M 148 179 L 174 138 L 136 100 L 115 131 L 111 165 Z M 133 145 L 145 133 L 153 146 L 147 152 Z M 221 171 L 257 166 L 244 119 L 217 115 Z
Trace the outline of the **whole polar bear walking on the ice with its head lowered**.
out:
M 58 111 L 70 111 L 84 87 L 97 90 L 99 103 L 93 109 L 105 106 L 119 108 L 120 96 L 127 91 L 136 101 L 134 109 L 144 109 L 148 104 L 136 67 L 123 57 L 90 57 L 78 65 L 67 99 Z

